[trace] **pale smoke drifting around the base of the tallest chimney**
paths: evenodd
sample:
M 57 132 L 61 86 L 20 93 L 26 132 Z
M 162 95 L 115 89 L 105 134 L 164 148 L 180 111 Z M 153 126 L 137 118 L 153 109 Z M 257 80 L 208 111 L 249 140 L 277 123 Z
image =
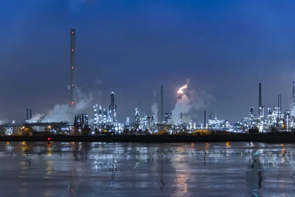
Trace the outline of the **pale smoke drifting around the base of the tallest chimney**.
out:
M 89 93 L 89 95 L 84 94 L 78 87 L 77 91 L 77 103 L 72 108 L 70 104 L 57 104 L 53 109 L 49 110 L 47 113 L 35 114 L 31 121 L 42 120 L 42 122 L 72 122 L 74 114 L 83 113 L 87 109 L 92 100 L 94 99 L 94 94 Z

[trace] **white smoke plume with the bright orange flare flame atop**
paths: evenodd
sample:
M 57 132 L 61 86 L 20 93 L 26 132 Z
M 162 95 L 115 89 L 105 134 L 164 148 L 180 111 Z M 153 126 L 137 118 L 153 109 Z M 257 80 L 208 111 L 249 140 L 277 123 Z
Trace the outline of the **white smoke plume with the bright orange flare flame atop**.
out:
M 214 98 L 205 92 L 198 94 L 195 90 L 189 91 L 188 95 L 183 94 L 182 90 L 188 87 L 188 82 L 182 86 L 178 93 L 182 94 L 181 99 L 177 100 L 175 108 L 172 110 L 172 124 L 177 124 L 179 121 L 189 123 L 191 117 L 188 115 L 190 112 L 200 110 L 210 105 L 211 100 Z

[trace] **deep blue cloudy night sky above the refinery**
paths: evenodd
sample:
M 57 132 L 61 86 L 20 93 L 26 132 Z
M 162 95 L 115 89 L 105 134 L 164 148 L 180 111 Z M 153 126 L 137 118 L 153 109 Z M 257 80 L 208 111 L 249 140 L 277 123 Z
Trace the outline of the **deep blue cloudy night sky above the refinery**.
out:
M 164 112 L 178 88 L 234 123 L 262 102 L 289 108 L 295 71 L 294 0 L 6 0 L 0 6 L 0 119 L 22 122 L 69 100 L 69 33 L 77 32 L 77 86 L 118 121 L 135 107 L 151 114 L 164 86 Z M 156 91 L 156 98 L 153 92 Z M 186 92 L 186 94 L 187 94 Z M 210 105 L 210 106 L 208 106 Z M 86 109 L 92 116 L 91 106 Z

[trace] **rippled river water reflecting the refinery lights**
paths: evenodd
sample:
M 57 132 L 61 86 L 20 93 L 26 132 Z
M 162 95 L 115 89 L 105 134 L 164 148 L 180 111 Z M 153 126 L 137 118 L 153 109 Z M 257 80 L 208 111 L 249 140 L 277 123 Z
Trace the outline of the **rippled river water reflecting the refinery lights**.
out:
M 23 197 L 295 196 L 294 147 L 0 142 L 0 191 Z

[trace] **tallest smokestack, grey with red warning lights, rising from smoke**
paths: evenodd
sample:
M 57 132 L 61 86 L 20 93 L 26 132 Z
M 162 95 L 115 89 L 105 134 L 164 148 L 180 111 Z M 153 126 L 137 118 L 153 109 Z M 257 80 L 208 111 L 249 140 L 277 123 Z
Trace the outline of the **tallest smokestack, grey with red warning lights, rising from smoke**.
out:
M 71 29 L 70 33 L 70 102 L 76 103 L 76 30 Z

